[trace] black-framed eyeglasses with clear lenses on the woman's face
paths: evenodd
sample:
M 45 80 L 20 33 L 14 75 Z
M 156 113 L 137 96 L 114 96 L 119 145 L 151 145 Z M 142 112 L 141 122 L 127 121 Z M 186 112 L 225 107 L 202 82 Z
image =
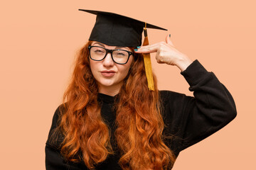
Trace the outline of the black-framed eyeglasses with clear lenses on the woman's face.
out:
M 126 64 L 129 60 L 129 57 L 134 54 L 133 52 L 127 50 L 109 50 L 105 47 L 99 46 L 89 46 L 88 49 L 91 60 L 102 61 L 110 52 L 112 60 L 117 64 Z

